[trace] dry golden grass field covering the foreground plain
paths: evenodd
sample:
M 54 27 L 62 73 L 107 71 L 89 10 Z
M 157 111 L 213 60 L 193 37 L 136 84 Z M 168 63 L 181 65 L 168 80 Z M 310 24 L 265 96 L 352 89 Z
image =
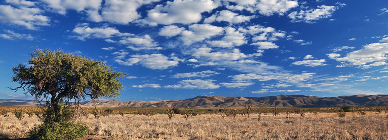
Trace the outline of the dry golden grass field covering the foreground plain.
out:
M 0 116 L 0 138 L 26 138 L 28 130 L 39 124 L 34 115 L 21 121 L 12 114 Z M 222 118 L 219 114 L 200 114 L 188 120 L 182 115 L 168 120 L 166 114 L 145 115 L 112 114 L 95 119 L 92 114 L 83 117 L 91 132 L 84 139 L 166 139 L 166 140 L 388 140 L 388 118 L 385 112 L 367 111 L 365 115 L 348 112 L 345 117 L 337 113 L 306 113 L 305 117 L 284 113 L 273 116 L 257 114 L 250 118 Z

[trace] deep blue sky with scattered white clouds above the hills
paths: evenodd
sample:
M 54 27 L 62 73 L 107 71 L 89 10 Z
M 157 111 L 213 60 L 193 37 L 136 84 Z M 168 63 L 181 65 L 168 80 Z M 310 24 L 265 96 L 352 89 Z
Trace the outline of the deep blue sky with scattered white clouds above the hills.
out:
M 388 1 L 0 0 L 0 99 L 36 46 L 128 73 L 118 100 L 387 94 Z

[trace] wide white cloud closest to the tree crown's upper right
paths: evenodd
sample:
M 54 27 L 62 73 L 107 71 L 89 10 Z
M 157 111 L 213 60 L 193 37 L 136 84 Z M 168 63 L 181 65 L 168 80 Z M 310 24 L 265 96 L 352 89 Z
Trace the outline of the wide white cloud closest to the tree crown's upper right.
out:
M 120 55 L 120 54 L 116 54 Z M 125 54 L 126 55 L 126 54 Z M 126 66 L 132 66 L 133 64 L 139 63 L 143 67 L 151 69 L 166 69 L 169 67 L 175 67 L 178 65 L 179 61 L 175 61 L 172 58 L 164 56 L 160 53 L 151 54 L 151 55 L 131 55 L 131 58 L 122 60 L 123 58 L 116 59 L 117 63 Z

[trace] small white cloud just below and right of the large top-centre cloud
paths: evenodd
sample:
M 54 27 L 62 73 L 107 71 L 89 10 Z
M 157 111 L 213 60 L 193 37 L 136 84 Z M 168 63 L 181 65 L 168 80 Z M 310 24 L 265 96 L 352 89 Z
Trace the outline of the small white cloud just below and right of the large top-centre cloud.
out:
M 241 22 L 249 21 L 251 18 L 253 18 L 253 16 L 239 15 L 229 10 L 222 10 L 204 19 L 203 22 L 211 23 L 214 21 L 217 21 L 217 22 L 226 21 L 226 22 L 229 22 L 230 24 L 238 24 Z

